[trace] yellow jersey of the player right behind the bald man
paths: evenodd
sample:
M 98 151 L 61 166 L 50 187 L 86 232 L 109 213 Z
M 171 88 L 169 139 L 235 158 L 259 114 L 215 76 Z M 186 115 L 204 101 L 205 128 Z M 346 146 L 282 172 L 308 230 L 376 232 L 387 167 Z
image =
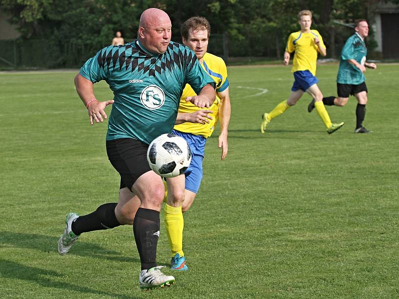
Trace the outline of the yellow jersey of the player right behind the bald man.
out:
M 209 120 L 209 124 L 205 123 L 204 125 L 186 122 L 180 125 L 175 125 L 174 129 L 180 132 L 191 133 L 208 138 L 212 134 L 218 119 L 220 98 L 217 92 L 222 92 L 228 87 L 227 68 L 222 58 L 210 53 L 205 53 L 205 55 L 203 55 L 201 66 L 216 83 L 215 100 L 209 108 L 199 108 L 190 102 L 186 102 L 187 97 L 197 95 L 193 88 L 189 84 L 186 84 L 182 97 L 180 98 L 179 113 L 193 113 L 198 110 L 209 109 L 213 111 L 213 113 L 210 114 L 213 120 Z

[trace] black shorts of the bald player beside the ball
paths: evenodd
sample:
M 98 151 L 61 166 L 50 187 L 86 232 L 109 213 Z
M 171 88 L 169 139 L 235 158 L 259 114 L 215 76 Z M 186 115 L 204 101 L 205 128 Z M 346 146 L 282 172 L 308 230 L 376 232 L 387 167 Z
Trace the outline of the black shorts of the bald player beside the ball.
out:
M 106 141 L 107 155 L 112 166 L 121 176 L 120 189 L 132 190 L 134 182 L 151 170 L 147 161 L 148 145 L 132 138 Z

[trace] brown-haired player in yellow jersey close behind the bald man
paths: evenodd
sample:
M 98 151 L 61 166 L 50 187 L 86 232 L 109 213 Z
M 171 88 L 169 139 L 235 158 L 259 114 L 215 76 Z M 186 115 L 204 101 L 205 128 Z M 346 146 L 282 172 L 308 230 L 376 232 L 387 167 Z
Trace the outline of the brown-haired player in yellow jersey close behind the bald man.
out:
M 164 211 L 172 251 L 171 269 L 174 270 L 188 270 L 183 253 L 183 212 L 190 208 L 200 188 L 206 138 L 212 134 L 216 122 L 219 121 L 218 147 L 221 148 L 223 160 L 227 155 L 227 128 L 231 112 L 226 65 L 222 58 L 206 53 L 210 34 L 209 22 L 204 17 L 192 17 L 183 23 L 181 33 L 183 43 L 195 52 L 201 66 L 215 81 L 216 99 L 208 110 L 196 107 L 186 101 L 187 97 L 196 95 L 187 84 L 180 99 L 176 126 L 172 131 L 187 141 L 193 154 L 187 173 L 190 174 L 186 176 L 185 181 L 176 184 L 175 179 L 174 184 L 168 183 Z M 181 196 L 181 192 L 184 192 L 184 196 Z

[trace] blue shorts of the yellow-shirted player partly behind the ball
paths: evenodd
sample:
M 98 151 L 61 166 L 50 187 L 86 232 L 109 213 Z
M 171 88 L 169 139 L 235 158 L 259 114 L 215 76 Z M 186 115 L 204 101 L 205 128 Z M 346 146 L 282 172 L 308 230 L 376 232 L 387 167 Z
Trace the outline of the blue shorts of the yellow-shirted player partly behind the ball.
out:
M 185 188 L 191 192 L 198 193 L 202 179 L 202 160 L 203 154 L 205 152 L 206 138 L 199 135 L 193 135 L 190 133 L 184 133 L 176 130 L 173 130 L 172 133 L 183 137 L 187 141 L 187 144 L 190 146 L 192 158 L 190 167 L 187 168 L 185 172 Z

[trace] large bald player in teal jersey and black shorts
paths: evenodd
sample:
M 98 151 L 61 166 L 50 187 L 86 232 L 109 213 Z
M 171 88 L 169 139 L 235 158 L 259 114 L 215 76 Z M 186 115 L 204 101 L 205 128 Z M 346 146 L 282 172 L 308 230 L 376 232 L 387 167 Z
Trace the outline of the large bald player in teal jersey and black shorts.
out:
M 186 83 L 198 94 L 187 100 L 198 107 L 208 108 L 215 99 L 213 79 L 190 48 L 170 41 L 171 28 L 166 12 L 157 8 L 145 10 L 136 41 L 100 50 L 75 77 L 76 90 L 88 109 L 91 125 L 103 122 L 107 117 L 104 108 L 113 104 L 106 149 L 121 176 L 120 192 L 118 203 L 103 204 L 84 216 L 67 214 L 58 252 L 66 254 L 81 233 L 133 224 L 143 289 L 175 282 L 156 264 L 165 189 L 161 177 L 147 162 L 148 145 L 172 131 Z M 114 92 L 113 101 L 97 101 L 93 83 L 101 80 L 106 80 Z M 82 152 L 90 159 L 90 152 Z M 132 192 L 136 194 L 133 198 Z

